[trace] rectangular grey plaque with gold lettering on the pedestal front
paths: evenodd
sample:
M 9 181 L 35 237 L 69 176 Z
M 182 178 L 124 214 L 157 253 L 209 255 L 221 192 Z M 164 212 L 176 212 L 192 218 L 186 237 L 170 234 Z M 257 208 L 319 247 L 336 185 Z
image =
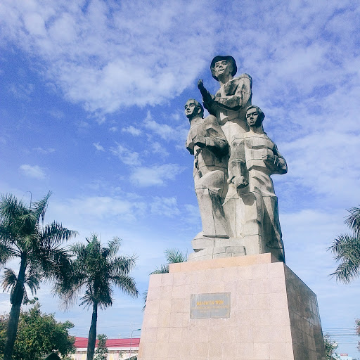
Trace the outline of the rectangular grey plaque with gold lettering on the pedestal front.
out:
M 229 317 L 230 293 L 191 295 L 191 319 L 227 319 Z

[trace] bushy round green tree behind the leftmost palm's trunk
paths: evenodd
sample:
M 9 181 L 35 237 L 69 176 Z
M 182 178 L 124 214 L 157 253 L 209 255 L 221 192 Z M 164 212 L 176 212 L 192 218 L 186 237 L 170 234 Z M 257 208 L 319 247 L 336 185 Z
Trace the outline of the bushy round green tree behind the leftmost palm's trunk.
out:
M 5 331 L 9 316 L 0 319 L 0 353 L 5 346 Z M 62 356 L 75 352 L 75 338 L 68 333 L 74 324 L 70 321 L 61 323 L 53 314 L 42 314 L 40 304 L 32 309 L 20 312 L 18 336 L 13 348 L 13 359 L 41 360 L 44 355 L 56 349 Z

